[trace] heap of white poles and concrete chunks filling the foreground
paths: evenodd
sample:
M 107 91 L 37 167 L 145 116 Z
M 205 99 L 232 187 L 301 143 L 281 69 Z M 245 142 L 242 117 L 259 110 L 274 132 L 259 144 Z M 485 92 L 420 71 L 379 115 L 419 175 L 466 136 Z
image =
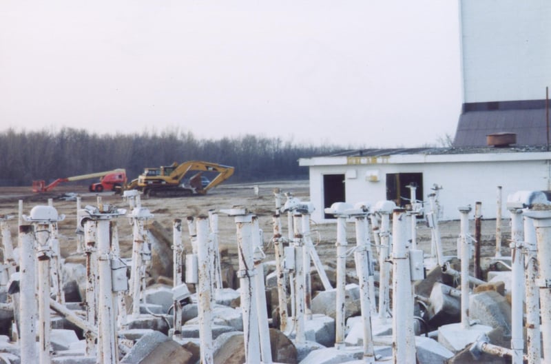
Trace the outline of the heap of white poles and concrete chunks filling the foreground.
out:
M 139 194 L 126 196 L 129 210 L 100 198 L 82 208 L 77 198 L 80 245 L 61 262 L 55 239 L 65 216 L 52 205 L 23 216 L 17 239 L 7 232 L 15 222 L 0 218 L 0 363 L 551 361 L 551 207 L 539 192 L 508 199 L 517 225 L 512 256 L 499 265 L 510 269 L 485 271 L 487 281 L 469 272 L 470 207 L 459 208 L 457 255 L 444 256 L 435 194 L 425 211 L 430 252 L 410 230 L 424 213 L 415 194 L 410 210 L 334 203 L 325 212 L 337 218 L 335 263 L 322 265 L 311 242 L 315 207 L 290 192 L 274 196 L 271 241 L 246 206 L 220 210 L 236 223 L 235 267 L 218 251 L 218 212 L 187 217 L 188 236 L 175 219 L 170 234 Z M 133 224 L 131 258 L 118 249 L 120 217 Z M 264 261 L 266 249 L 275 260 Z

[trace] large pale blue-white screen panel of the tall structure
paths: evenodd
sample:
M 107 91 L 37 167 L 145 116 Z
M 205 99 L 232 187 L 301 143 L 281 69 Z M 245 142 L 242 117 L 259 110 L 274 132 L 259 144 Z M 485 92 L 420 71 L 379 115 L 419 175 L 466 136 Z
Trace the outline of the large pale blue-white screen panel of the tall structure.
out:
M 551 1 L 459 3 L 464 103 L 545 99 Z

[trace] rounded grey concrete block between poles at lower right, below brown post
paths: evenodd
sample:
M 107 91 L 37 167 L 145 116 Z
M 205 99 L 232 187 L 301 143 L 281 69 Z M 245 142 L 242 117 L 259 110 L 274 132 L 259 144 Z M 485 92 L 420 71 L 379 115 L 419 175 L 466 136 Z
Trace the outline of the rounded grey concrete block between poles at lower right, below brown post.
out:
M 470 295 L 469 318 L 492 328 L 503 327 L 503 334 L 511 335 L 511 306 L 495 291 Z

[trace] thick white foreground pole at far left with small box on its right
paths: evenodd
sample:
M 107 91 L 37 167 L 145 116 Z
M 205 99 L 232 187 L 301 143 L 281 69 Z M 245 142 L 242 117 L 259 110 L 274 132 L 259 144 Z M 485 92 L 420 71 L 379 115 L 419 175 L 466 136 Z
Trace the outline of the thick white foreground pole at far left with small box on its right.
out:
M 117 363 L 110 256 L 110 221 L 108 219 L 98 219 L 96 227 L 99 276 L 98 332 L 101 335 L 101 347 L 98 350 L 97 360 L 101 363 Z

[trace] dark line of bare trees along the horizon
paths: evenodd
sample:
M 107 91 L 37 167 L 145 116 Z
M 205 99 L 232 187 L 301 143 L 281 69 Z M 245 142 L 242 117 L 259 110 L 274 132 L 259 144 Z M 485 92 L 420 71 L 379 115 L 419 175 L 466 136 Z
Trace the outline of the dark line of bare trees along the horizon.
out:
M 298 159 L 328 154 L 335 146 L 295 145 L 291 141 L 244 135 L 196 139 L 191 132 L 168 130 L 141 134 L 91 134 L 86 130 L 0 133 L 0 185 L 30 185 L 61 177 L 125 168 L 134 179 L 145 167 L 191 160 L 236 168 L 234 182 L 307 178 Z

